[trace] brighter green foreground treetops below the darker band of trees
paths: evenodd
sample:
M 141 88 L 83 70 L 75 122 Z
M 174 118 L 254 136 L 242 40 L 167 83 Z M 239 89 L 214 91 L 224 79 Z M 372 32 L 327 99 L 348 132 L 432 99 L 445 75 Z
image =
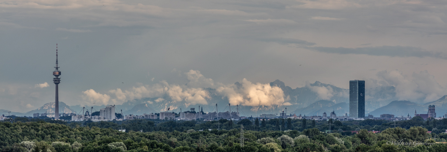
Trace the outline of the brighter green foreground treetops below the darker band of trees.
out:
M 219 120 L 220 121 L 220 120 Z M 216 121 L 215 123 L 222 123 Z M 135 124 L 143 121 L 135 121 Z M 150 121 L 146 121 L 148 123 Z M 231 121 L 223 122 L 230 123 Z M 243 121 L 233 122 L 240 126 Z M 248 122 L 248 121 L 245 121 Z M 183 124 L 185 123 L 185 124 Z M 186 130 L 205 123 L 160 122 L 161 126 L 181 125 L 184 131 L 121 132 L 111 127 L 70 127 L 65 124 L 38 122 L 0 122 L 2 152 L 440 152 L 446 144 L 434 140 L 423 127 L 387 128 L 380 133 L 365 129 L 354 135 L 325 133 L 318 128 L 302 131 L 274 131 L 245 128 L 244 146 L 240 128 L 211 131 Z M 144 124 L 151 126 L 152 124 Z M 266 124 L 267 125 L 267 124 Z M 250 125 L 248 125 L 250 126 Z M 256 125 L 254 125 L 256 126 Z M 176 126 L 179 127 L 179 126 Z M 287 126 L 286 126 L 287 127 Z M 393 145 L 389 141 L 420 145 Z

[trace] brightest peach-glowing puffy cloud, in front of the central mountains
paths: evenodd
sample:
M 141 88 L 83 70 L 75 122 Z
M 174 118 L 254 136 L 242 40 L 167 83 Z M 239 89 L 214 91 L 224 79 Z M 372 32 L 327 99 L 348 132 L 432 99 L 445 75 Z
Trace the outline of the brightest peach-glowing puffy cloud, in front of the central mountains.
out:
M 238 85 L 221 86 L 216 90 L 223 97 L 228 98 L 232 105 L 253 107 L 291 105 L 291 103 L 286 102 L 289 98 L 285 97 L 283 90 L 278 86 L 253 84 L 245 78 Z

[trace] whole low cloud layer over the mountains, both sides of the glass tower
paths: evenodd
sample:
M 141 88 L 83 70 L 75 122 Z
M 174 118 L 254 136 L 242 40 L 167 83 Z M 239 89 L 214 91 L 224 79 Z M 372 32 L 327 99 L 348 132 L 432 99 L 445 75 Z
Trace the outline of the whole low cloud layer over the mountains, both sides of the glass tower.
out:
M 185 85 L 169 84 L 163 80 L 154 85 L 138 84 L 139 86 L 130 89 L 117 88 L 104 93 L 89 89 L 84 91 L 86 101 L 84 104 L 122 104 L 135 99 L 153 98 L 152 101 L 147 102 L 149 105 L 169 102 L 181 103 L 187 107 L 197 104 L 212 105 L 215 101 L 213 97 L 219 97 L 221 98 L 219 100 L 225 100 L 232 105 L 249 107 L 302 108 L 302 106 L 307 106 L 317 100 L 349 103 L 349 90 L 320 82 L 313 84 L 306 82 L 303 88 L 291 89 L 278 80 L 278 82 L 263 84 L 253 83 L 244 78 L 234 84 L 216 83 L 211 78 L 205 78 L 198 70 L 181 73 L 181 76 L 186 77 L 188 83 Z M 346 80 L 346 83 L 348 81 Z M 215 90 L 214 93 L 209 89 Z M 310 92 L 305 93 L 306 91 Z M 315 94 L 316 96 L 312 97 L 306 94 Z M 366 79 L 366 94 L 367 101 L 380 103 L 374 107 L 378 108 L 393 100 L 409 100 L 415 103 L 431 102 L 447 94 L 447 90 L 445 86 L 439 85 L 428 71 L 413 73 L 410 77 L 402 74 L 399 70 L 384 70 L 377 73 L 377 79 Z

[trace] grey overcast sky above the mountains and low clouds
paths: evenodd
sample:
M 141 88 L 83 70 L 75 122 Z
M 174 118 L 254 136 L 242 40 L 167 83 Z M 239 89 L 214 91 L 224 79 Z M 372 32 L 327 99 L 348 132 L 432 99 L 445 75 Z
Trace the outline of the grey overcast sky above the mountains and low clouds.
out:
M 54 102 L 56 43 L 67 105 L 93 103 L 90 89 L 113 101 L 184 85 L 190 70 L 223 85 L 364 79 L 433 101 L 447 94 L 446 12 L 445 0 L 2 0 L 0 109 Z

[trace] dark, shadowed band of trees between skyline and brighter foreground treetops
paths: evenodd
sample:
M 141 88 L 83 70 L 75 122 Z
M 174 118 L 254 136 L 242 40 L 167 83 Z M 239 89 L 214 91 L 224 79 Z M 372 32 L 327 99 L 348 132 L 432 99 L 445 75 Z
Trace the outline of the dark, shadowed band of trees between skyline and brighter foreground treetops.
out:
M 428 131 L 433 133 L 441 133 L 447 130 L 447 119 L 435 120 L 427 119 L 424 120 L 421 117 L 413 117 L 411 120 L 403 121 L 389 121 L 389 120 L 373 120 L 366 119 L 362 121 L 316 121 L 316 120 L 306 120 L 306 119 L 255 119 L 250 121 L 249 119 L 243 119 L 233 122 L 232 120 L 220 119 L 214 121 L 203 121 L 203 120 L 193 120 L 193 121 L 170 121 L 170 120 L 160 120 L 160 119 L 135 119 L 135 120 L 124 120 L 124 121 L 108 121 L 108 122 L 93 122 L 91 120 L 85 120 L 81 122 L 71 122 L 71 121 L 60 121 L 53 120 L 50 118 L 29 118 L 29 117 L 14 117 L 13 119 L 8 119 L 9 122 L 37 122 L 45 121 L 48 123 L 58 123 L 64 124 L 70 127 L 100 127 L 100 128 L 112 128 L 112 129 L 126 129 L 126 131 L 185 131 L 185 130 L 202 130 L 202 129 L 226 129 L 231 130 L 238 128 L 240 124 L 244 125 L 249 129 L 254 129 L 258 131 L 263 130 L 297 130 L 303 131 L 308 128 L 318 128 L 320 131 L 334 131 L 342 133 L 343 135 L 350 135 L 350 131 L 359 131 L 361 129 L 366 129 L 368 131 L 383 131 L 388 127 L 401 127 L 409 129 L 413 126 L 421 126 L 426 128 Z M 330 124 L 328 124 L 330 123 Z

